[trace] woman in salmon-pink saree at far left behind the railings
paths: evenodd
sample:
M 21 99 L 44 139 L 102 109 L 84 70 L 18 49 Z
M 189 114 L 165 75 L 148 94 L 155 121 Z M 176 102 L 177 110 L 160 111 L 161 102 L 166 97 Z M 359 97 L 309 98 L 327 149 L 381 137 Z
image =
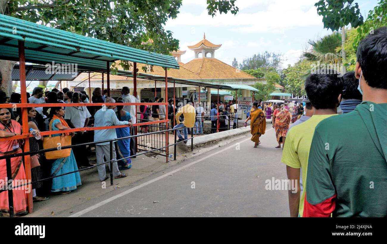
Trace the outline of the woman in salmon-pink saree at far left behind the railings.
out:
M 11 119 L 10 111 L 7 108 L 0 109 L 0 137 L 11 137 L 21 134 L 21 126 L 16 120 Z M 0 141 L 0 156 L 21 153 L 20 148 L 24 140 Z M 0 189 L 6 188 L 7 179 L 6 159 L 0 160 Z M 27 183 L 26 173 L 22 157 L 11 158 L 12 187 Z M 7 180 L 6 180 L 7 179 Z M 20 186 L 12 190 L 14 198 L 14 214 L 27 214 L 27 192 L 31 190 L 30 185 Z M 4 216 L 9 216 L 8 191 L 0 193 L 0 211 Z

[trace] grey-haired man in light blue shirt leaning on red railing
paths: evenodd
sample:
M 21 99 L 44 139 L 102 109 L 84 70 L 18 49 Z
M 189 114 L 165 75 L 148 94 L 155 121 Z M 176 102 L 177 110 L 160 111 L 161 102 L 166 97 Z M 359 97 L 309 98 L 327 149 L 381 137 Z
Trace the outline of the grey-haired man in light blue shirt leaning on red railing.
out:
M 113 98 L 106 98 L 105 103 L 114 103 L 115 100 Z M 132 126 L 132 123 L 128 121 L 120 121 L 118 120 L 116 113 L 113 110 L 114 106 L 103 106 L 101 109 L 99 109 L 96 114 L 94 115 L 94 127 L 101 127 L 101 126 L 112 126 L 112 125 L 129 125 Z M 116 129 L 104 129 L 104 130 L 94 130 L 94 141 L 104 141 L 109 139 L 116 139 Z M 104 162 L 103 156 L 105 156 L 107 161 L 110 161 L 110 143 L 109 142 L 102 142 L 96 144 L 96 157 L 97 157 L 97 164 L 101 164 Z M 116 160 L 116 150 L 113 143 L 113 158 L 112 160 Z M 110 169 L 110 163 L 108 163 L 109 169 Z M 98 176 L 100 181 L 105 181 L 109 178 L 109 176 L 106 176 L 106 169 L 105 165 L 101 164 L 97 166 L 98 169 Z M 111 169 L 110 169 L 111 170 Z M 125 173 L 120 173 L 120 170 L 118 169 L 117 162 L 113 163 L 113 176 L 115 178 L 123 178 L 126 177 Z

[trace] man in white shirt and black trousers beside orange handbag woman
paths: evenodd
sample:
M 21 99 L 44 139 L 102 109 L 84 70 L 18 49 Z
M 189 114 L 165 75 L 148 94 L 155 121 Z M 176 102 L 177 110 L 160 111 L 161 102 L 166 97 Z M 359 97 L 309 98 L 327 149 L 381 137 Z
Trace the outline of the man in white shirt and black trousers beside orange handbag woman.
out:
M 80 103 L 79 102 L 79 93 L 74 92 L 72 96 L 71 103 Z M 89 118 L 91 117 L 91 114 L 89 110 L 87 110 L 86 106 L 82 107 L 67 107 L 66 113 L 65 113 L 65 120 L 70 126 L 70 128 L 82 128 L 87 127 L 87 124 L 89 124 Z M 76 142 L 77 144 L 82 144 L 86 142 L 86 135 L 87 131 L 79 131 L 75 132 L 75 135 L 72 139 L 73 142 Z M 79 146 L 79 147 L 73 147 L 73 152 L 75 156 L 75 161 L 77 161 L 78 168 L 81 168 L 81 166 L 84 167 L 90 167 L 92 166 L 89 164 L 89 159 L 87 159 L 86 152 L 86 146 Z

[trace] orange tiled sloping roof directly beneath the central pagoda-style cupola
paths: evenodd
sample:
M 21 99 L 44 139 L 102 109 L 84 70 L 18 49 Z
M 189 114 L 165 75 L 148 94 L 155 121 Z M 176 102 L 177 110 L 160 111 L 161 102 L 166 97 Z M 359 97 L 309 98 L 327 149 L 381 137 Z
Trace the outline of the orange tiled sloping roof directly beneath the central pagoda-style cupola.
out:
M 216 58 L 195 58 L 182 67 L 193 71 L 201 79 L 255 79 Z

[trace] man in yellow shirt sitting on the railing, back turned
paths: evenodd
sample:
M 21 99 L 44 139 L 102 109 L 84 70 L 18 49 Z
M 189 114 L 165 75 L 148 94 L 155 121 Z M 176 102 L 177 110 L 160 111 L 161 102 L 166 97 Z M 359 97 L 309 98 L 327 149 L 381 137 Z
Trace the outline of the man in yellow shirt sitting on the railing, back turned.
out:
M 188 139 L 187 128 L 194 127 L 196 112 L 195 112 L 194 106 L 189 104 L 190 103 L 189 98 L 184 98 L 184 103 L 186 103 L 186 105 L 181 107 L 177 111 L 177 114 L 175 116 L 177 125 L 175 125 L 175 127 L 173 127 L 173 129 L 178 129 L 178 130 L 176 130 L 177 136 L 179 137 L 177 142 L 184 141 L 184 143 L 187 144 L 187 141 L 186 141 Z M 180 122 L 180 120 L 179 120 L 180 115 L 184 116 L 183 122 Z M 184 139 L 182 137 L 182 134 L 179 131 L 181 129 L 183 129 Z

